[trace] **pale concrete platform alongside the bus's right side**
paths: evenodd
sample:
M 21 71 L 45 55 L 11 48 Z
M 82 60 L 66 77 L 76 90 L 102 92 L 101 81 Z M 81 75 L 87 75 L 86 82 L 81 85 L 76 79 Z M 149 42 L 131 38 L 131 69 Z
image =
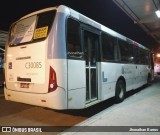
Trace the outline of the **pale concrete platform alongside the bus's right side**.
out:
M 160 78 L 153 85 L 142 88 L 140 92 L 127 98 L 124 102 L 111 106 L 106 110 L 79 123 L 77 126 L 93 126 L 90 131 L 99 130 L 98 126 L 160 126 Z M 72 128 L 74 130 L 74 128 Z M 63 135 L 160 135 L 159 132 L 64 132 Z M 116 130 L 116 127 L 115 127 Z M 160 128 L 159 128 L 160 130 Z M 84 130 L 85 131 L 85 130 Z

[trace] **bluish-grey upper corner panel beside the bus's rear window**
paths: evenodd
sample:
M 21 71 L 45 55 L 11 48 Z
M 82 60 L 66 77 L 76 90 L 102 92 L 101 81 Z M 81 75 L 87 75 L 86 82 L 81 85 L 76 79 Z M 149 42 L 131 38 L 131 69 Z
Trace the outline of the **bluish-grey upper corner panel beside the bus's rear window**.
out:
M 52 29 L 48 35 L 47 59 L 67 59 L 66 18 L 68 14 L 57 12 Z

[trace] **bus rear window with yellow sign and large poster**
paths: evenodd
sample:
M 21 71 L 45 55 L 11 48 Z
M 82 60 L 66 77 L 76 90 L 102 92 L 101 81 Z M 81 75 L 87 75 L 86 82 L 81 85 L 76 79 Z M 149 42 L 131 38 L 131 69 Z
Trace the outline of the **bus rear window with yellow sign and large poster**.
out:
M 11 27 L 9 46 L 44 40 L 53 24 L 56 11 L 48 11 L 16 22 Z

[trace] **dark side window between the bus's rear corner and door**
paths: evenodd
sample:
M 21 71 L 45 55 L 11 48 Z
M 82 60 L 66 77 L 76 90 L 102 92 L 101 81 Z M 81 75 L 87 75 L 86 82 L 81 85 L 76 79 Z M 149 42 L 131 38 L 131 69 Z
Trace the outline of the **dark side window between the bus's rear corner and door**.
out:
M 67 51 L 69 58 L 82 58 L 80 24 L 71 18 L 67 22 Z

